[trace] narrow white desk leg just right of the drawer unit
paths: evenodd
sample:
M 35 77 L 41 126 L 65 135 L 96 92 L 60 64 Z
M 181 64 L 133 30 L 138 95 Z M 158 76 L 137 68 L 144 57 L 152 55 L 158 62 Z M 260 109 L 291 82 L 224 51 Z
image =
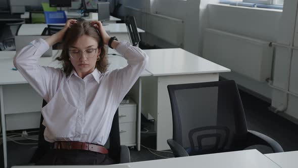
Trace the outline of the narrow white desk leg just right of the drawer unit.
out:
M 141 144 L 141 78 L 134 83 L 133 87 L 129 91 L 129 96 L 134 100 L 137 104 L 137 119 L 136 119 L 136 148 L 140 150 Z

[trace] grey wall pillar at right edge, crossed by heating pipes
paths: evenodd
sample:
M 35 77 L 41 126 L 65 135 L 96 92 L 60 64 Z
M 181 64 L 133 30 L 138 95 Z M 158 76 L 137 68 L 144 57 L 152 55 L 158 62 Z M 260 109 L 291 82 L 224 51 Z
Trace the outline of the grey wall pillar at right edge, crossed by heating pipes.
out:
M 284 2 L 284 13 L 280 22 L 280 30 L 277 42 L 284 45 L 298 47 L 297 35 L 297 0 Z M 292 59 L 291 59 L 292 57 Z M 289 69 L 291 66 L 291 69 Z M 276 49 L 276 61 L 274 64 L 273 85 L 290 93 L 298 95 L 298 51 L 290 51 L 286 48 Z M 272 94 L 272 106 L 283 111 L 280 114 L 285 117 L 296 118 L 293 120 L 298 123 L 298 97 L 274 89 Z

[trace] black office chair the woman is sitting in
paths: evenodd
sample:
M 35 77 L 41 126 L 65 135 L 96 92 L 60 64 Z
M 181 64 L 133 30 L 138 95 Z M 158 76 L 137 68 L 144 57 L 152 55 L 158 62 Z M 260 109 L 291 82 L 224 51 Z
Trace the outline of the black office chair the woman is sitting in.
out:
M 43 100 L 42 107 L 46 105 L 46 101 Z M 43 117 L 40 117 L 39 124 L 39 135 L 38 135 L 38 147 L 33 154 L 29 164 L 35 164 L 38 162 L 44 154 L 52 148 L 52 144 L 44 140 L 44 125 L 42 124 Z M 127 163 L 130 162 L 130 153 L 127 146 L 120 145 L 120 133 L 119 133 L 119 114 L 118 109 L 114 115 L 112 128 L 109 135 L 109 139 L 105 144 L 105 147 L 109 149 L 109 157 L 115 160 L 117 163 Z

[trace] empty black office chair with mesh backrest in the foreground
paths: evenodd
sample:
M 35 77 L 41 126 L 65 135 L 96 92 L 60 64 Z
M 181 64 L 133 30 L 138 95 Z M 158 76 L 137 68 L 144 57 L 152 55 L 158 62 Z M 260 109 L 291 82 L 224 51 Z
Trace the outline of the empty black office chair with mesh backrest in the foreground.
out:
M 175 157 L 243 150 L 253 145 L 283 152 L 270 137 L 247 130 L 234 80 L 169 85 L 168 91 L 173 139 L 167 142 Z

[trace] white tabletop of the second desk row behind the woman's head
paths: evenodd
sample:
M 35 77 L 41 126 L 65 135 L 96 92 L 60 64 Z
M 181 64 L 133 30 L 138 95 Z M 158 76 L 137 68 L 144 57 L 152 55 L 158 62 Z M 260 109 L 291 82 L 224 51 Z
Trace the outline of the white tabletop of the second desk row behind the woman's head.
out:
M 53 25 L 65 25 L 65 24 L 53 24 Z M 47 27 L 47 24 L 22 24 L 18 35 L 41 35 L 43 29 Z M 125 23 L 111 23 L 105 27 L 106 31 L 110 33 L 127 33 Z M 137 28 L 138 32 L 145 32 L 142 29 Z

